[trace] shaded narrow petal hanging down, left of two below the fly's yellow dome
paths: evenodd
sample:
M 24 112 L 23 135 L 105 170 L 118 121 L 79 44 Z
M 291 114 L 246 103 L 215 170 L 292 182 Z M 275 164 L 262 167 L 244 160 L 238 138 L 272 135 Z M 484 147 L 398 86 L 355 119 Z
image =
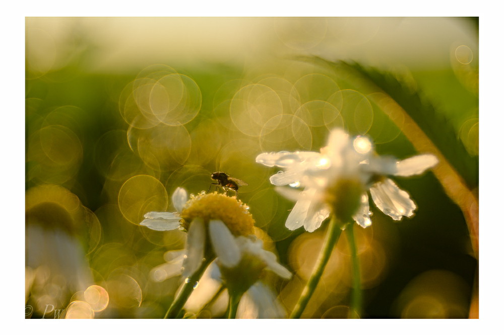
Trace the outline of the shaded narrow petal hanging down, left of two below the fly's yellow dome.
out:
M 202 218 L 195 218 L 191 221 L 187 231 L 187 257 L 184 260 L 184 278 L 191 277 L 203 263 L 205 257 L 206 229 Z

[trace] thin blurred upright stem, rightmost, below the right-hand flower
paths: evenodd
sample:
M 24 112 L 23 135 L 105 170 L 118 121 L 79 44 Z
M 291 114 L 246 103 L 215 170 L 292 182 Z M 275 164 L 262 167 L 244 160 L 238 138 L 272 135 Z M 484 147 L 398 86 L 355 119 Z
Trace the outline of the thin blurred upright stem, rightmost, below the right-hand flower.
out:
M 347 238 L 350 247 L 350 257 L 352 260 L 352 294 L 350 296 L 350 318 L 360 318 L 362 311 L 362 289 L 360 287 L 360 264 L 357 255 L 357 244 L 355 243 L 355 234 L 353 227 L 355 224 L 348 225 Z

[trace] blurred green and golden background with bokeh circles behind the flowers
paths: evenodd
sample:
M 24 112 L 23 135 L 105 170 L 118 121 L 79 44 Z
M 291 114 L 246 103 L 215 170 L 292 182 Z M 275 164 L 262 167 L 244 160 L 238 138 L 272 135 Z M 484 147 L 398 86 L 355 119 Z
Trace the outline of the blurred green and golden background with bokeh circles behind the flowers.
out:
M 162 317 L 180 279 L 151 270 L 185 237 L 138 223 L 173 211 L 177 187 L 206 191 L 215 171 L 249 184 L 239 198 L 295 275 L 267 279 L 289 312 L 324 226 L 285 228 L 293 204 L 257 154 L 318 151 L 334 127 L 369 135 L 380 154 L 416 153 L 351 74 L 313 56 L 380 69 L 418 94 L 444 120 L 435 135 L 460 141 L 452 163 L 469 161 L 478 195 L 475 18 L 27 18 L 27 317 L 90 295 L 92 311 L 75 315 Z M 357 229 L 362 317 L 467 317 L 477 263 L 461 210 L 432 173 L 396 181 L 418 209 L 396 222 L 371 206 L 372 226 Z M 303 317 L 344 317 L 349 286 L 343 236 Z

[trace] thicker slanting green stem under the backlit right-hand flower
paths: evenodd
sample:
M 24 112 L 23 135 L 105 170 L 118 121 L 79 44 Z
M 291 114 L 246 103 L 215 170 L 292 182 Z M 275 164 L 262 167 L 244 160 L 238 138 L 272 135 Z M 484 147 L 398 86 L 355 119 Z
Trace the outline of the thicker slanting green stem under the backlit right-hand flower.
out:
M 311 277 L 306 282 L 306 285 L 304 286 L 303 292 L 301 293 L 296 306 L 294 306 L 294 309 L 290 314 L 291 319 L 298 319 L 301 316 L 304 309 L 306 308 L 306 305 L 308 304 L 308 301 L 313 295 L 313 292 L 317 288 L 317 285 L 319 284 L 319 281 L 322 277 L 322 273 L 324 272 L 327 262 L 329 261 L 329 257 L 331 256 L 334 246 L 336 245 L 336 242 L 338 242 L 338 239 L 341 235 L 341 227 L 341 224 L 333 215 L 331 217 L 331 222 L 329 222 L 329 228 L 326 233 L 326 240 L 324 241 L 324 244 L 322 246 L 317 264 L 314 267 Z

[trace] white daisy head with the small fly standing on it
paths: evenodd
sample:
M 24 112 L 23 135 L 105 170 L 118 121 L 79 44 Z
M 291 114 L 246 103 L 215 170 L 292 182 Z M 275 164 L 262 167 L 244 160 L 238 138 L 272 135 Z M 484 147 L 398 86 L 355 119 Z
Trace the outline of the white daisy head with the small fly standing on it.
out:
M 185 255 L 182 258 L 184 278 L 191 277 L 205 259 L 218 257 L 228 267 L 238 264 L 240 250 L 235 235 L 254 233 L 254 219 L 246 205 L 217 193 L 201 193 L 188 198 L 182 188 L 175 190 L 172 202 L 177 212 L 149 212 L 140 224 L 160 231 L 187 230 Z M 207 247 L 208 242 L 210 248 Z M 166 273 L 160 274 L 160 278 L 172 276 L 175 267 L 166 265 L 163 268 Z

